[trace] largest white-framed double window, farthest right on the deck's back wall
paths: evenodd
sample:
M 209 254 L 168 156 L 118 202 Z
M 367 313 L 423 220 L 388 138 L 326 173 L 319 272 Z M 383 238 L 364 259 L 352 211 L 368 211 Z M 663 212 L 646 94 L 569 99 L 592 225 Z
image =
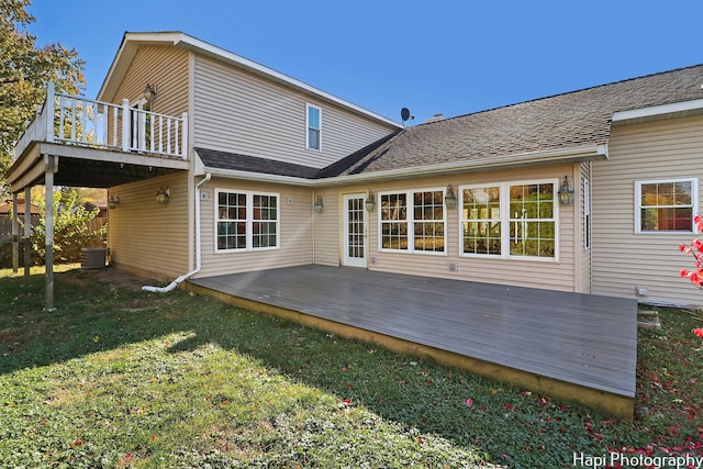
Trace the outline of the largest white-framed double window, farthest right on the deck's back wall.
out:
M 558 181 L 460 189 L 461 255 L 555 259 Z

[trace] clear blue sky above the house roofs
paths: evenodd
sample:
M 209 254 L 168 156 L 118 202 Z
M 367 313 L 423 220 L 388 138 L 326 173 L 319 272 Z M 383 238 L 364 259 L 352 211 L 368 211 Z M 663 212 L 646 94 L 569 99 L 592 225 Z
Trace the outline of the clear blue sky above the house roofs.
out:
M 411 124 L 703 63 L 700 0 L 34 0 L 30 12 L 40 45 L 87 62 L 89 98 L 125 31 L 182 31 L 395 121 L 406 107 Z

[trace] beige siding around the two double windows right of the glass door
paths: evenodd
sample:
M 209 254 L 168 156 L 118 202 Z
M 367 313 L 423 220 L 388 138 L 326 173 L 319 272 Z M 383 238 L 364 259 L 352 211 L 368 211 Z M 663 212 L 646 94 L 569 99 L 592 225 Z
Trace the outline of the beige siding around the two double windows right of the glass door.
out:
M 563 179 L 563 175 L 568 174 L 572 179 L 574 169 L 571 165 L 550 166 L 534 169 L 520 169 L 511 171 L 479 172 L 472 175 L 455 175 L 448 177 L 432 177 L 406 179 L 383 183 L 372 183 L 365 186 L 349 186 L 338 189 L 337 199 L 342 199 L 343 193 L 367 192 L 369 189 L 376 194 L 377 205 L 379 202 L 379 192 L 388 191 L 405 191 L 409 189 L 425 188 L 446 188 L 447 183 L 454 186 L 455 192 L 458 194 L 458 187 L 465 185 L 481 185 L 488 182 L 510 182 L 510 181 L 529 181 L 536 179 Z M 319 190 L 320 191 L 320 190 Z M 324 192 L 325 213 L 327 211 L 327 198 L 333 194 Z M 338 202 L 336 203 L 338 210 Z M 581 286 L 577 284 L 577 276 L 574 271 L 576 254 L 574 254 L 574 226 L 577 222 L 573 219 L 574 205 L 558 205 L 557 224 L 559 230 L 559 259 L 554 260 L 524 260 L 524 259 L 501 259 L 501 258 L 483 258 L 479 256 L 468 257 L 460 256 L 460 222 L 459 209 L 449 210 L 447 212 L 446 233 L 447 249 L 446 254 L 425 254 L 425 253 L 389 253 L 379 250 L 379 212 L 377 209 L 369 214 L 368 226 L 368 268 L 370 270 L 392 271 L 409 275 L 422 275 L 431 277 L 440 277 L 457 280 L 469 280 L 480 282 L 501 283 L 509 286 L 522 286 L 533 288 L 545 288 L 563 291 L 578 291 Z M 445 208 L 446 210 L 446 208 Z M 331 216 L 332 219 L 332 216 Z M 338 214 L 338 219 L 343 219 L 343 214 Z M 335 220 L 336 226 L 332 222 L 325 221 L 321 223 L 321 217 L 315 222 L 315 261 L 334 265 L 339 260 L 339 223 Z M 336 234 L 336 246 L 331 239 Z M 324 235 L 324 241 L 320 235 Z M 377 263 L 371 263 L 375 257 Z M 457 271 L 450 271 L 449 265 L 456 264 Z

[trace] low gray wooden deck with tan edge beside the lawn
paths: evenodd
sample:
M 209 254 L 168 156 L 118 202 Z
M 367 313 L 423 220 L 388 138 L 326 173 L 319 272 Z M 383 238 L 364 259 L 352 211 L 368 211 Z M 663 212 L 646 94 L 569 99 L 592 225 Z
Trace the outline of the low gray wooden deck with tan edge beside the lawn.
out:
M 187 288 L 632 420 L 635 300 L 324 266 Z

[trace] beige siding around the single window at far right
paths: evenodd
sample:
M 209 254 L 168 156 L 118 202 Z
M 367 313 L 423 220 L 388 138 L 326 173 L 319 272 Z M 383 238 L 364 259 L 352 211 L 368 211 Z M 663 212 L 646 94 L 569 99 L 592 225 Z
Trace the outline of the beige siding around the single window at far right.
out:
M 609 146 L 609 160 L 593 163 L 593 293 L 703 304 L 701 291 L 679 278 L 692 263 L 678 245 L 693 235 L 635 234 L 635 181 L 703 177 L 703 118 L 614 126 Z M 637 297 L 637 287 L 648 295 Z

